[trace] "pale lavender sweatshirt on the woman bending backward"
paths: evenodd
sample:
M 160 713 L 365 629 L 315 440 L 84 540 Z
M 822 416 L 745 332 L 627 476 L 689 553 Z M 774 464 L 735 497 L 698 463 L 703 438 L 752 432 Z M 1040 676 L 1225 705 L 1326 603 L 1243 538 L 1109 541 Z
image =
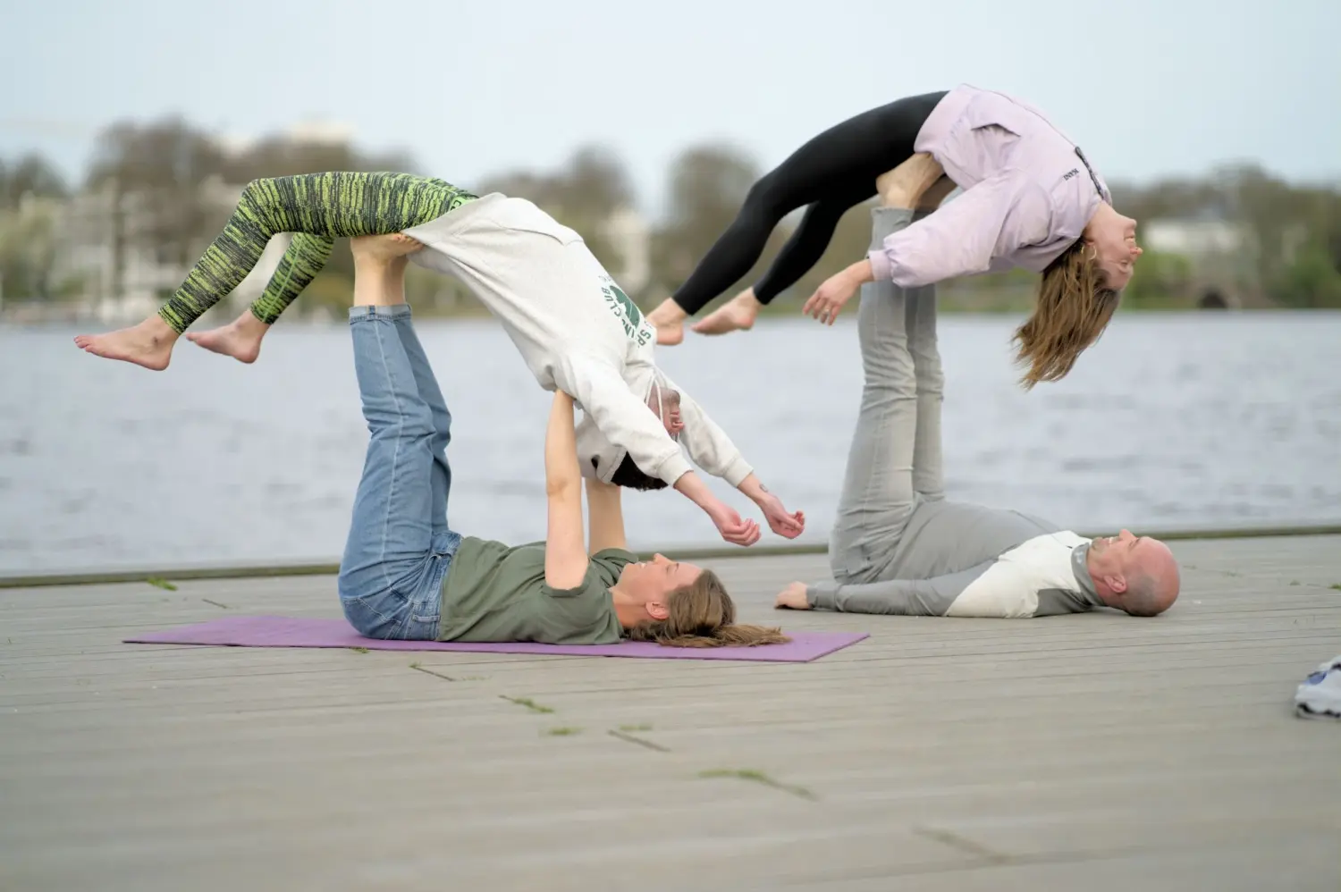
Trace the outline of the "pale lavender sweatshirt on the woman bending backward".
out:
M 1075 144 L 1002 93 L 951 90 L 913 150 L 931 154 L 964 192 L 868 255 L 877 280 L 904 288 L 1011 267 L 1042 272 L 1110 201 Z

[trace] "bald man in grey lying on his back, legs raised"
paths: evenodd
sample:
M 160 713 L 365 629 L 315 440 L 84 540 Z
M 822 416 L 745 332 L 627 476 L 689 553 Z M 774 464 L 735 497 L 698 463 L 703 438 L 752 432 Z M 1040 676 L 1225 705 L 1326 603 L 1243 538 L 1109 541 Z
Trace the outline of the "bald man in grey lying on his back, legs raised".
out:
M 912 220 L 873 213 L 877 244 Z M 869 283 L 857 325 L 865 388 L 830 539 L 834 582 L 793 582 L 778 608 L 1015 618 L 1102 606 L 1156 616 L 1173 604 L 1179 566 L 1159 539 L 1086 539 L 945 500 L 933 287 Z

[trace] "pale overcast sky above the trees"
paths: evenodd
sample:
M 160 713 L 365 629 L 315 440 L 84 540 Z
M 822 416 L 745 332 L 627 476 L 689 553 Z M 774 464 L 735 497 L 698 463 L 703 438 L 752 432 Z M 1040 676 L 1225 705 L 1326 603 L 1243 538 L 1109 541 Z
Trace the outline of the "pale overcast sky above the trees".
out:
M 688 145 L 772 165 L 968 82 L 1041 106 L 1109 180 L 1338 180 L 1338 0 L 0 0 L 0 157 L 80 176 L 99 127 L 168 113 L 243 138 L 339 123 L 463 184 L 597 141 L 656 211 Z

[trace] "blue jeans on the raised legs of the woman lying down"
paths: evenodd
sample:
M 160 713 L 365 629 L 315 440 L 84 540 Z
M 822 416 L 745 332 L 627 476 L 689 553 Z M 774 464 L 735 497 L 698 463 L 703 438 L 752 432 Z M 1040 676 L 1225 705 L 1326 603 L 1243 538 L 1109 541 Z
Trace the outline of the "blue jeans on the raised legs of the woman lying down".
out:
M 447 526 L 452 414 L 409 306 L 353 307 L 349 326 L 371 436 L 339 567 L 341 605 L 359 634 L 430 641 L 461 545 Z

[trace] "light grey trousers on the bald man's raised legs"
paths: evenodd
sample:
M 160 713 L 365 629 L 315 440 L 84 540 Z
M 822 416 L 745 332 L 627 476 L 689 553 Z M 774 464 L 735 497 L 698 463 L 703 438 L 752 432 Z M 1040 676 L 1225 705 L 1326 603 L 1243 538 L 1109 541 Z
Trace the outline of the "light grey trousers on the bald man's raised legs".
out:
M 874 208 L 872 249 L 912 221 L 912 211 Z M 839 583 L 882 578 L 913 510 L 944 498 L 936 286 L 864 284 L 857 330 L 865 385 L 829 541 Z

